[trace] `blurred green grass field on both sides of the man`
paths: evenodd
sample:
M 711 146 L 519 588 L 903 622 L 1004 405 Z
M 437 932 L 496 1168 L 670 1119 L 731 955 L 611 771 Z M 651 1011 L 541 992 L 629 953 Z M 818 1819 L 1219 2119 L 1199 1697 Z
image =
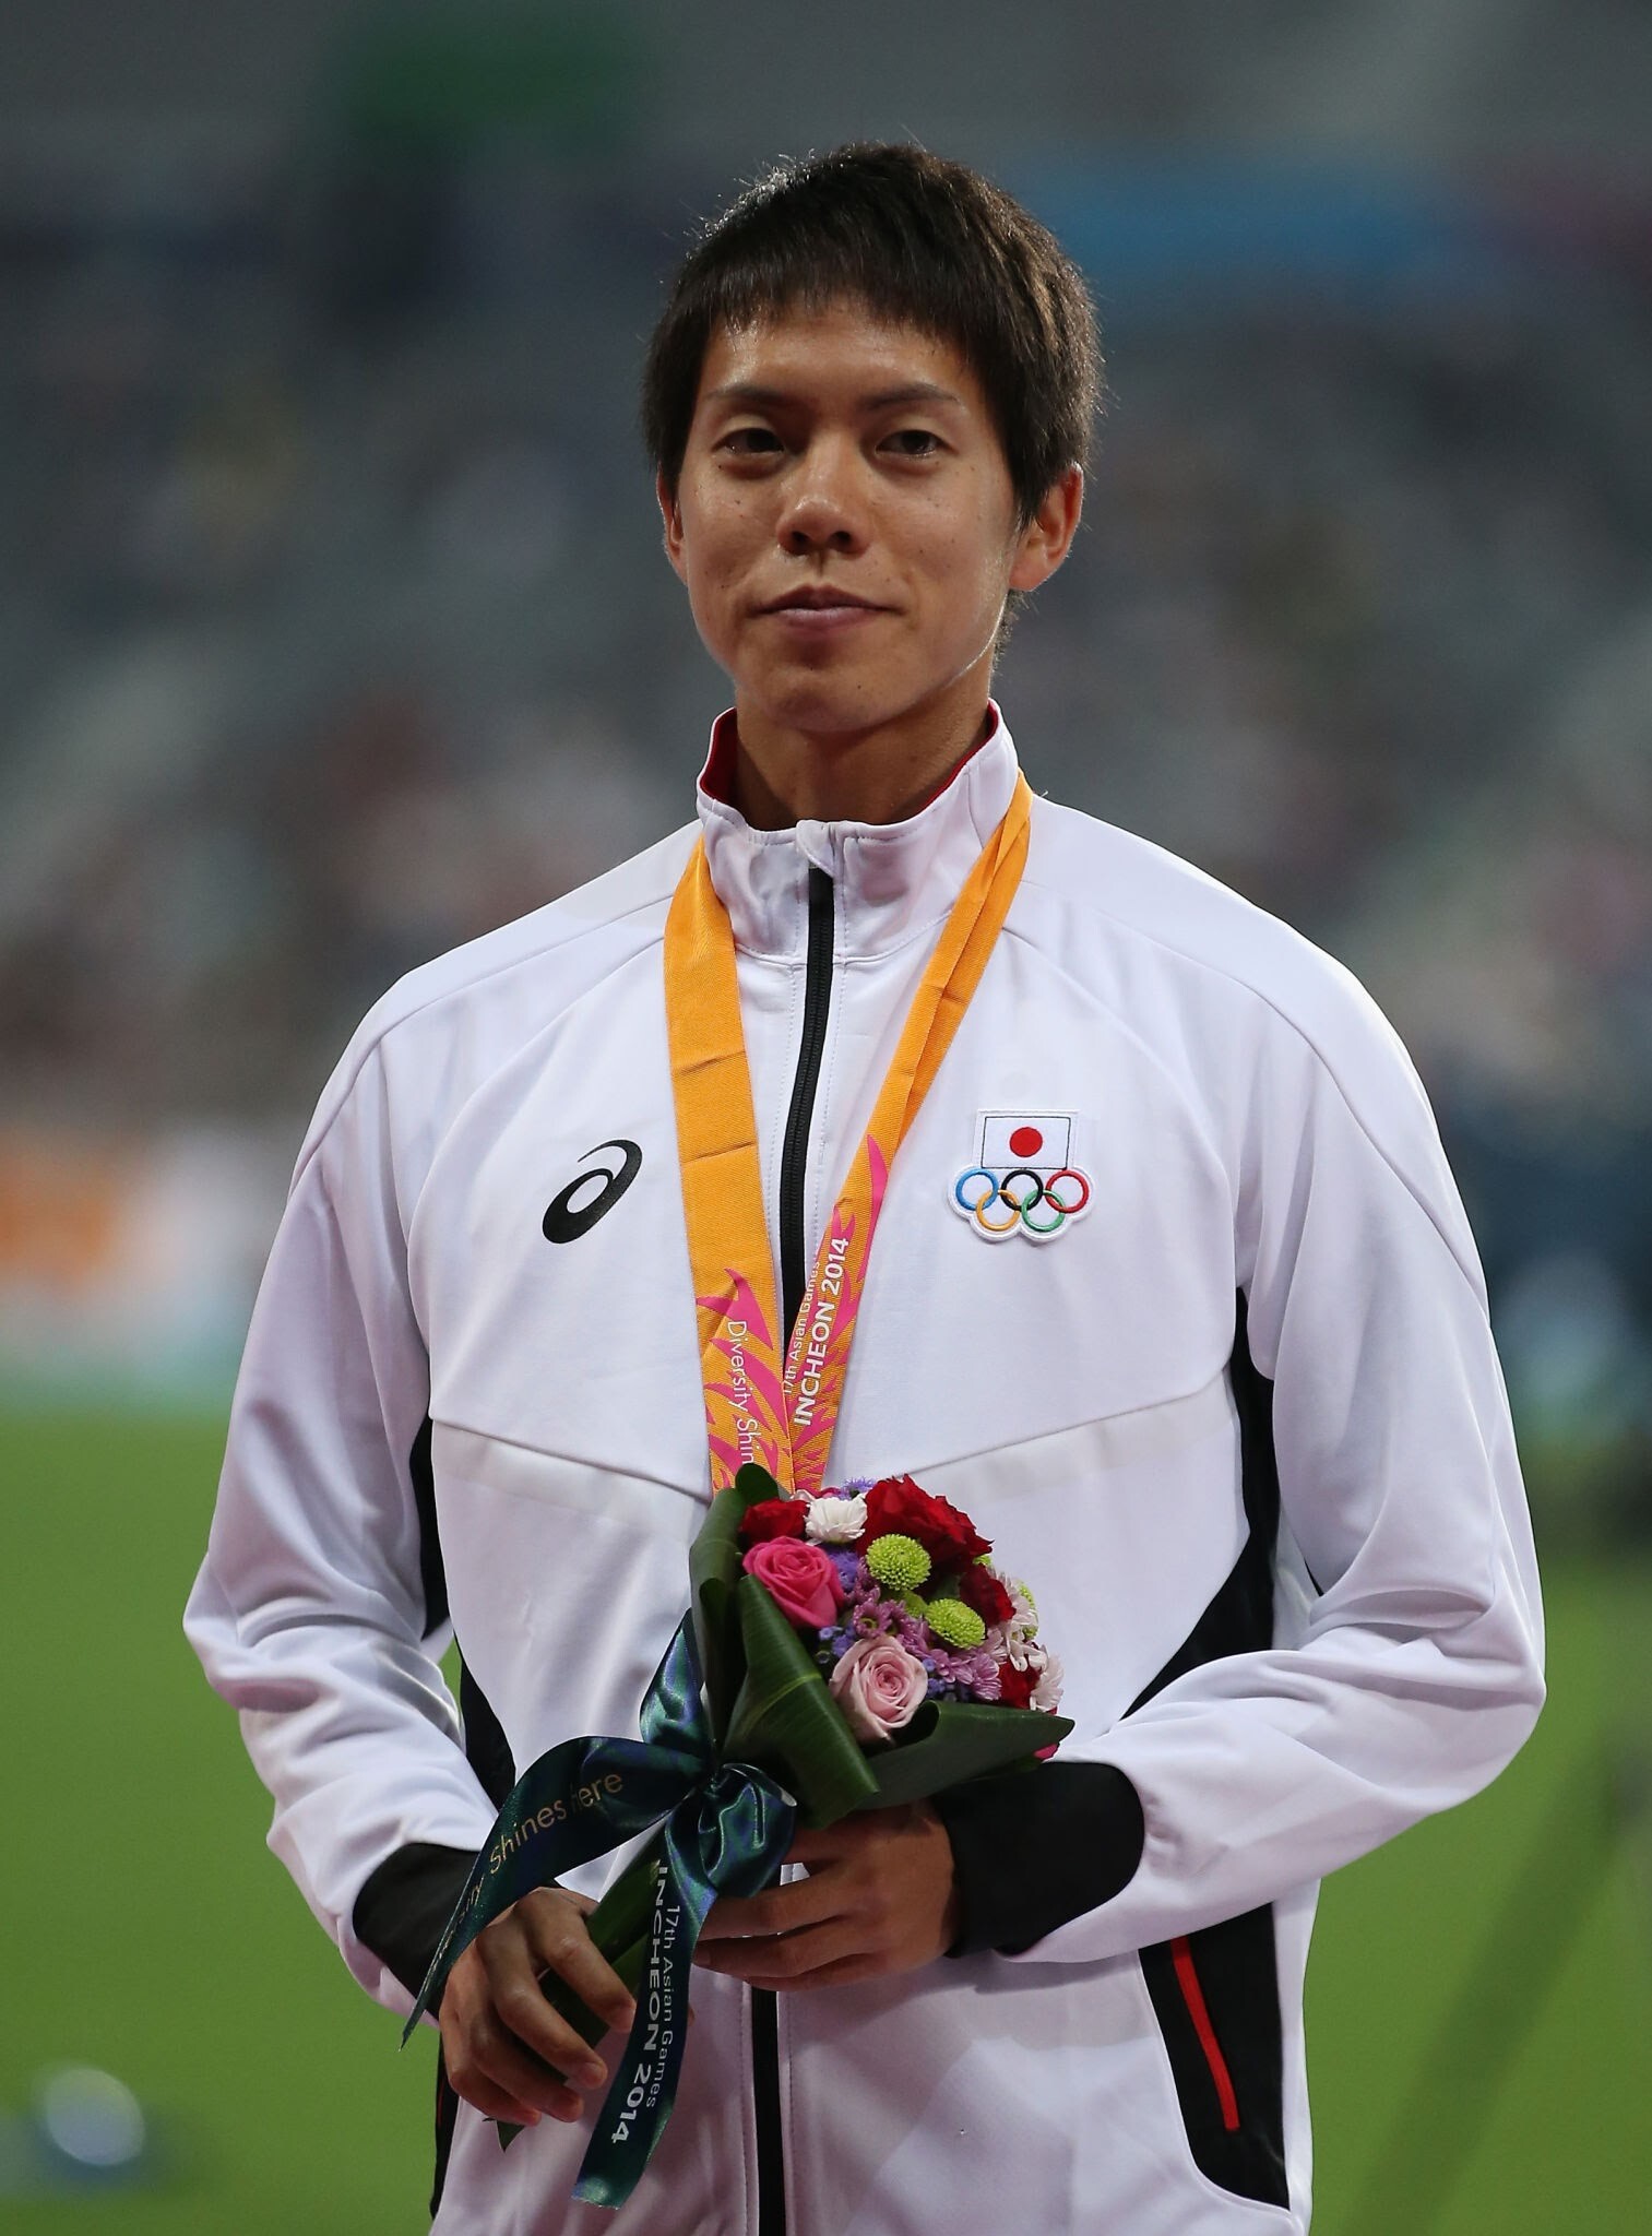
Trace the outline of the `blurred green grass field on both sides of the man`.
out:
M 118 2073 L 145 2191 L 0 2198 L 20 2236 L 427 2225 L 431 2050 L 349 1981 L 264 1849 L 266 1798 L 179 1632 L 221 1427 L 0 1418 L 13 1708 L 0 2111 Z M 1326 1887 L 1317 2236 L 1618 2236 L 1652 2196 L 1652 1892 L 1614 1822 L 1652 1715 L 1652 1581 L 1549 1576 L 1551 1706 L 1487 1796 Z M 1124 2232 L 1120 2232 L 1124 2236 Z

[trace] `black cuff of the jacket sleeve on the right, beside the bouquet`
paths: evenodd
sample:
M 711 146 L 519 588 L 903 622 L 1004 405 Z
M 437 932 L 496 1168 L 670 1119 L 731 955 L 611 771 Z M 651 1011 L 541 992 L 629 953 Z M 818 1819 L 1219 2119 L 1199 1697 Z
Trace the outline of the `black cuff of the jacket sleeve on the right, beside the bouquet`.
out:
M 932 1796 L 952 1842 L 948 1957 L 1022 1950 L 1111 1901 L 1142 1860 L 1142 1802 L 1111 1762 L 1039 1762 Z

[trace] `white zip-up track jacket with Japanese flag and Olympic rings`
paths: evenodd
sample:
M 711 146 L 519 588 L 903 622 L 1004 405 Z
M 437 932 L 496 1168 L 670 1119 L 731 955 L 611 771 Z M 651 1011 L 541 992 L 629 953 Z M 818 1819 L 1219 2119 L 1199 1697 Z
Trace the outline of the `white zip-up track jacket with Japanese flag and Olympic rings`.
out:
M 905 823 L 782 832 L 715 796 L 718 754 L 700 825 L 776 1263 L 811 1263 L 1015 749 L 997 724 Z M 275 1798 L 270 1845 L 402 2015 L 355 1932 L 362 1887 L 411 1845 L 481 1847 L 474 1764 L 499 1793 L 559 1740 L 633 1735 L 686 1605 L 709 1469 L 662 930 L 691 839 L 380 1002 L 248 1335 L 188 1632 Z M 1055 1232 L 970 1216 L 988 1183 L 1019 1169 L 1006 1194 L 1031 1203 L 1057 1165 L 1089 1201 Z M 1124 1773 L 1140 1860 L 1031 1945 L 780 1997 L 767 2075 L 747 1990 L 697 1972 L 630 2205 L 568 2202 L 583 2129 L 501 2153 L 461 2104 L 445 2236 L 758 2236 L 760 2171 L 787 2236 L 1308 2227 L 1317 1880 L 1531 1728 L 1520 1474 L 1395 1035 L 1294 932 L 1046 800 L 872 1252 L 829 1478 L 901 1471 L 1033 1585 L 1077 1724 L 1055 1766 Z M 1082 1880 L 1084 1836 L 1055 1845 Z M 990 1856 L 1022 1869 L 1008 1831 Z M 981 1914 L 1013 1916 L 1017 1887 L 972 1869 Z

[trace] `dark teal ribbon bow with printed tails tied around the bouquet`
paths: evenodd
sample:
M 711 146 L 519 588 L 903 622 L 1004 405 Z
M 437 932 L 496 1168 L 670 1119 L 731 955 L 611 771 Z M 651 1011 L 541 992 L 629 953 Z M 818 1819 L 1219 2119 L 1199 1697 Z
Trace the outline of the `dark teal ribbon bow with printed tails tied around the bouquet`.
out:
M 653 1854 L 653 1907 L 637 2015 L 579 2167 L 575 2196 L 624 2205 L 664 2133 L 689 2035 L 689 1968 L 720 1894 L 758 1894 L 791 1847 L 796 1804 L 749 1762 L 722 1762 L 706 1715 L 689 1617 L 637 1715 L 639 1740 L 563 1740 L 505 1796 L 487 1845 L 443 1927 L 402 2030 L 440 2003 L 476 1934 L 534 1887 L 664 1827 Z

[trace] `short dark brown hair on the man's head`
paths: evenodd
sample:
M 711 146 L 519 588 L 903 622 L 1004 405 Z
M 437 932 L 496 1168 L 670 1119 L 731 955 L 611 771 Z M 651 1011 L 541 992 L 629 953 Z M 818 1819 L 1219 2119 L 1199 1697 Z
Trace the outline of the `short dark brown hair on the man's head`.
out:
M 959 351 L 993 411 L 1022 525 L 1084 465 L 1102 353 L 1073 259 L 963 163 L 856 143 L 776 163 L 684 257 L 642 376 L 642 432 L 668 490 L 713 333 L 841 297 Z

